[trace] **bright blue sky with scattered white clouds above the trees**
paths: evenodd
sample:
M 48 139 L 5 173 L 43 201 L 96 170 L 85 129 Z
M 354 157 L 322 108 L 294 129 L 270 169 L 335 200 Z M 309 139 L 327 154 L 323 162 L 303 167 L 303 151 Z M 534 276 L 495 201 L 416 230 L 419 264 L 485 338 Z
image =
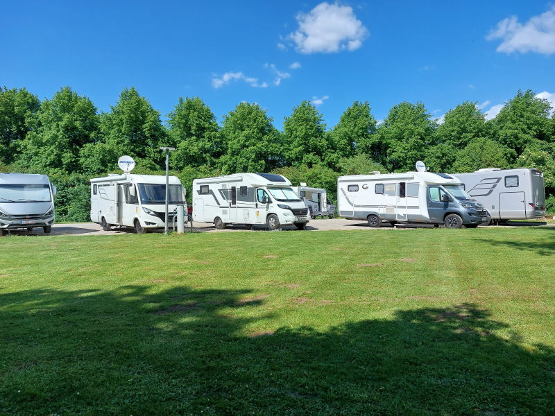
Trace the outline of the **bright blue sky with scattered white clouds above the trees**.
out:
M 520 89 L 555 101 L 555 4 L 543 1 L 12 1 L 0 6 L 0 85 L 69 85 L 108 111 L 134 86 L 162 117 L 200 96 L 276 127 L 311 100 L 331 128 L 353 101 L 490 116 Z

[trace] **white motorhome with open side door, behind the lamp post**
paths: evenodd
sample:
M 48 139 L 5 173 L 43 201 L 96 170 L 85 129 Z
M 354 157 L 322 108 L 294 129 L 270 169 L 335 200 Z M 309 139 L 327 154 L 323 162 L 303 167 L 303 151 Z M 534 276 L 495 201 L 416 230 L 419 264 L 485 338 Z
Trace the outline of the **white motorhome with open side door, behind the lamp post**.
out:
M 186 205 L 185 189 L 176 176 L 169 177 L 169 227 L 178 205 Z M 146 229 L 164 228 L 166 220 L 164 175 L 108 175 L 91 180 L 91 220 L 108 230 L 112 225 Z

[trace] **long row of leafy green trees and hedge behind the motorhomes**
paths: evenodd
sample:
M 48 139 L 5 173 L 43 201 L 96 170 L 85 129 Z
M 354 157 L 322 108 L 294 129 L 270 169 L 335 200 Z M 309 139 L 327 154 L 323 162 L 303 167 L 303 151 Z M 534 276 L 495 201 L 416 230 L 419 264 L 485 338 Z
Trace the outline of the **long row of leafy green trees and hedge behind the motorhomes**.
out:
M 368 101 L 355 101 L 328 128 L 323 114 L 302 101 L 282 130 L 256 103 L 239 103 L 216 116 L 199 97 L 178 98 L 162 123 L 160 112 L 135 88 L 123 89 L 109 112 L 70 87 L 41 101 L 27 89 L 0 88 L 0 171 L 45 173 L 58 186 L 58 218 L 89 218 L 90 177 L 118 172 L 130 155 L 137 173 L 161 174 L 160 146 L 173 146 L 170 167 L 189 190 L 194 177 L 273 172 L 293 184 L 323 187 L 334 199 L 339 175 L 411 171 L 422 160 L 430 171 L 535 167 L 545 174 L 549 209 L 555 209 L 555 119 L 549 102 L 531 90 L 507 101 L 486 120 L 465 101 L 438 123 L 423 103 L 402 102 L 382 123 Z M 135 173 L 134 172 L 134 173 Z

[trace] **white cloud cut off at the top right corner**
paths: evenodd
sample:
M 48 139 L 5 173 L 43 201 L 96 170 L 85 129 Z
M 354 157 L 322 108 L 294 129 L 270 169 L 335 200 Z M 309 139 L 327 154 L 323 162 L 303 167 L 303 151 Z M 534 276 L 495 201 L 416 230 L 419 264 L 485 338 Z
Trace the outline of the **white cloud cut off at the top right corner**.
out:
M 511 16 L 499 21 L 487 40 L 501 39 L 497 52 L 537 52 L 545 55 L 555 53 L 555 6 L 547 12 L 531 17 L 524 24 Z

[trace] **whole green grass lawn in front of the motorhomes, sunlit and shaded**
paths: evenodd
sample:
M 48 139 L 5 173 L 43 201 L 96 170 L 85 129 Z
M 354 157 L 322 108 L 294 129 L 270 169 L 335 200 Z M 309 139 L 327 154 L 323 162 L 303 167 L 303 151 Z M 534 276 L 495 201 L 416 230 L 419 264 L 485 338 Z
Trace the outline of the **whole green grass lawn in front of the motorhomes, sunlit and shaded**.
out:
M 555 228 L 0 239 L 0 415 L 553 415 Z

